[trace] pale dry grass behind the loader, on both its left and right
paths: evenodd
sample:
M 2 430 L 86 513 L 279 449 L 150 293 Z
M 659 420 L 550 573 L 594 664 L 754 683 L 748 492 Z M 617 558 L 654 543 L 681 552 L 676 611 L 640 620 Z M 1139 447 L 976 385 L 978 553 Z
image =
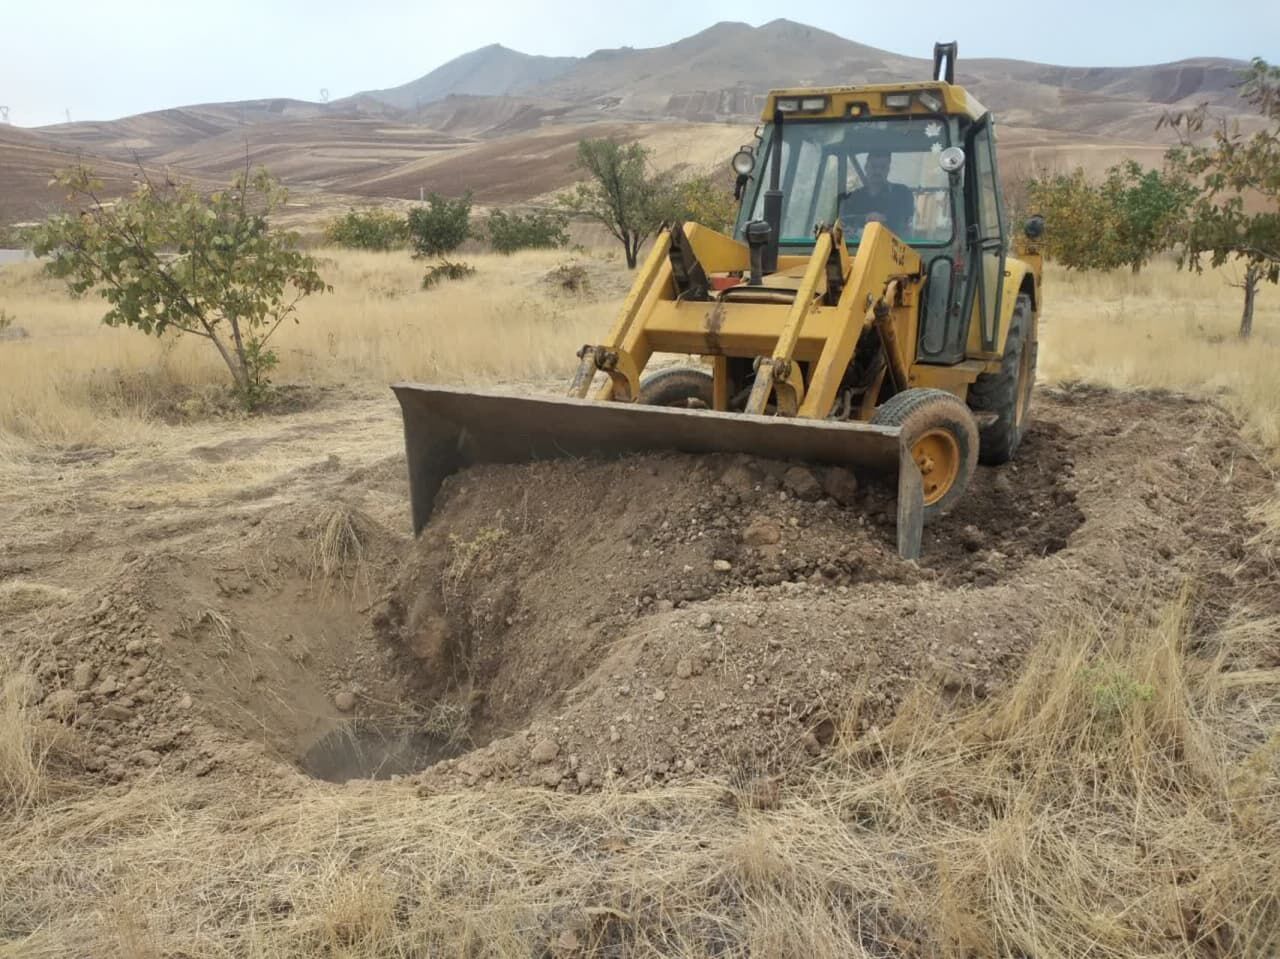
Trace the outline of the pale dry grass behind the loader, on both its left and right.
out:
M 421 265 L 407 254 L 320 255 L 334 292 L 305 301 L 301 323 L 278 334 L 282 383 L 543 380 L 572 367 L 627 283 L 617 257 L 550 251 L 472 256 L 475 277 L 422 291 Z M 573 260 L 594 279 L 585 296 L 547 280 Z M 1280 291 L 1262 291 L 1256 333 L 1242 342 L 1231 279 L 1230 269 L 1197 275 L 1167 262 L 1139 275 L 1051 268 L 1041 380 L 1215 396 L 1260 442 L 1280 444 Z M 10 446 L 127 437 L 225 378 L 205 343 L 102 326 L 97 301 L 69 298 L 35 264 L 0 271 L 0 306 L 29 334 L 0 348 L 0 433 Z

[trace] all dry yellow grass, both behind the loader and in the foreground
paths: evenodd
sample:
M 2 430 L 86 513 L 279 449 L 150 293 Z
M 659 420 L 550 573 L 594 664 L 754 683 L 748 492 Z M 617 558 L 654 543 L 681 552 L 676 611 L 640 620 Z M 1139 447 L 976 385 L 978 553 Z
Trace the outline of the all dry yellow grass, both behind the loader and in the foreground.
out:
M 477 256 L 476 277 L 422 292 L 406 255 L 324 256 L 334 293 L 282 333 L 282 383 L 540 385 L 626 280 L 589 260 L 595 292 L 570 296 L 544 283 L 564 254 Z M 1242 343 L 1228 279 L 1051 270 L 1042 380 L 1213 397 L 1275 451 L 1280 292 L 1262 292 Z M 201 343 L 104 329 L 95 302 L 29 266 L 0 270 L 0 306 L 29 334 L 0 342 L 12 478 L 52 448 L 189 444 L 211 415 L 236 416 L 210 412 L 224 373 Z M 1258 515 L 1280 545 L 1280 501 Z M 922 693 L 777 808 L 714 782 L 430 802 L 316 787 L 282 802 L 157 778 L 93 795 L 63 775 L 73 744 L 9 681 L 0 871 L 22 882 L 5 908 L 95 908 L 12 944 L 0 930 L 0 956 L 513 956 L 538 940 L 548 956 L 692 958 L 732 941 L 836 959 L 884 954 L 864 931 L 883 944 L 895 923 L 891 955 L 1276 955 L 1280 685 L 1253 667 L 1280 622 L 1242 608 L 1189 649 L 1194 592 L 1134 621 L 1082 612 L 973 709 Z

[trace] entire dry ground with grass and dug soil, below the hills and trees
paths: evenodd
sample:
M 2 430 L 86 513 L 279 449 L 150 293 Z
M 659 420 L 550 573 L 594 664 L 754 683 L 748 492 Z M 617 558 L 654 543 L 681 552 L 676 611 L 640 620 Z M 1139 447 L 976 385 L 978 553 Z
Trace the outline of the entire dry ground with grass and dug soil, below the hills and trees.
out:
M 0 956 L 1280 953 L 1274 289 L 1242 344 L 1229 274 L 1051 271 L 1019 469 L 916 568 L 678 457 L 415 547 L 384 384 L 552 389 L 626 271 L 324 256 L 259 417 L 0 269 Z

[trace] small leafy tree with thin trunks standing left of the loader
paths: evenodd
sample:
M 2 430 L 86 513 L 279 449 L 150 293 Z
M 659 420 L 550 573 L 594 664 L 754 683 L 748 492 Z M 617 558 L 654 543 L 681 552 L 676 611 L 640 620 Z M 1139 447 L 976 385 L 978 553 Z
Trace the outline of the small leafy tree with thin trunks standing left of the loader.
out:
M 33 251 L 50 257 L 46 271 L 74 296 L 106 300 L 109 326 L 210 341 L 241 402 L 260 405 L 276 364 L 271 335 L 297 321 L 302 297 L 330 289 L 296 234 L 270 224 L 287 198 L 280 184 L 266 170 L 246 170 L 202 196 L 189 183 L 145 177 L 131 196 L 104 202 L 84 166 L 60 170 L 55 182 L 78 213 L 32 230 Z

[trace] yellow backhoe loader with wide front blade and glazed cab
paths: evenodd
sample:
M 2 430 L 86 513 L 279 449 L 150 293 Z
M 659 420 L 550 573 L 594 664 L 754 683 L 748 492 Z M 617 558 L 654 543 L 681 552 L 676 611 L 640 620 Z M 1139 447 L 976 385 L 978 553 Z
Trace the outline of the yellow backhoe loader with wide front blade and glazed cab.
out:
M 732 236 L 673 223 L 568 396 L 394 387 L 415 531 L 475 462 L 672 449 L 844 465 L 896 480 L 897 548 L 1027 429 L 1039 218 L 1010 242 L 991 114 L 933 79 L 769 93 L 732 160 Z M 698 365 L 645 374 L 655 355 Z M 599 374 L 604 374 L 603 376 Z

